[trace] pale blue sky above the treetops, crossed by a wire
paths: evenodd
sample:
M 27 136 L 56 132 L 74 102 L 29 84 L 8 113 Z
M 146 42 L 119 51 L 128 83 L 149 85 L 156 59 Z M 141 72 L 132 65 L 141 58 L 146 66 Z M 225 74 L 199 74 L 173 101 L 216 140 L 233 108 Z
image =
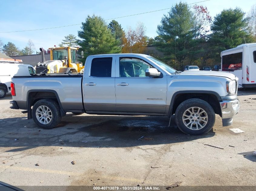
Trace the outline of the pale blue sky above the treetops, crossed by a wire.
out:
M 202 0 L 187 0 L 188 4 Z M 121 0 L 109 1 L 71 1 L 71 0 L 2 0 L 0 11 L 0 32 L 33 30 L 64 25 L 79 24 L 85 21 L 87 15 L 100 15 L 104 19 L 111 19 L 125 15 L 138 14 L 148 11 L 170 8 L 176 0 Z M 197 3 L 207 6 L 210 15 L 214 17 L 224 8 L 240 7 L 248 12 L 255 0 L 210 0 Z M 192 5 L 193 6 L 193 5 Z M 141 14 L 126 18 L 115 19 L 126 29 L 127 26 L 135 27 L 138 21 L 143 22 L 147 28 L 146 35 L 155 37 L 157 25 L 160 24 L 163 14 L 169 10 Z M 111 20 L 106 21 L 109 23 Z M 24 48 L 31 39 L 38 51 L 40 47 L 47 49 L 61 43 L 64 36 L 74 34 L 81 25 L 61 27 L 48 30 L 35 30 L 15 33 L 0 33 L 4 44 L 8 41 L 20 49 Z

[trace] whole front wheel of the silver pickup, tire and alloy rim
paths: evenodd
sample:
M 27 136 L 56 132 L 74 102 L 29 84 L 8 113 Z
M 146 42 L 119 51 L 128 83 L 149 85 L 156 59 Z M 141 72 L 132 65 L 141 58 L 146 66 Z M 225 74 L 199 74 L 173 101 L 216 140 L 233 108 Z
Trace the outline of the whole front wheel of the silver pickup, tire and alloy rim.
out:
M 206 101 L 192 98 L 183 101 L 177 107 L 175 122 L 185 134 L 202 135 L 214 126 L 215 112 Z

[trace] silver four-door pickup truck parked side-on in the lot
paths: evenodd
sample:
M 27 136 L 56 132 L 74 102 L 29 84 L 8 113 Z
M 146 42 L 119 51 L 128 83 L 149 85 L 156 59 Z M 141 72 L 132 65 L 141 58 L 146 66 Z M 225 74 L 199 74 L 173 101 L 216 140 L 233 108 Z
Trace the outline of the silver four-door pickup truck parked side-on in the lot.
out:
M 201 135 L 214 126 L 215 113 L 229 126 L 240 107 L 233 74 L 178 72 L 143 54 L 88 56 L 83 74 L 15 76 L 11 87 L 11 108 L 27 110 L 44 129 L 57 126 L 67 112 L 175 114 L 182 132 Z

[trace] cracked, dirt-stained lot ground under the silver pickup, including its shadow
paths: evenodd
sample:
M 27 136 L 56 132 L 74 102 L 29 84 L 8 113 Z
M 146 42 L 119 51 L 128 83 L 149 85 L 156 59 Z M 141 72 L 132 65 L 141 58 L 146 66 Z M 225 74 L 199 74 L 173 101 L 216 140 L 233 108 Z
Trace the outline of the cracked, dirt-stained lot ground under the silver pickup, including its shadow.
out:
M 222 127 L 216 115 L 211 132 L 190 136 L 161 116 L 68 113 L 59 127 L 40 129 L 9 108 L 8 94 L 0 100 L 0 180 L 14 186 L 256 186 L 256 89 L 238 95 L 232 126 Z

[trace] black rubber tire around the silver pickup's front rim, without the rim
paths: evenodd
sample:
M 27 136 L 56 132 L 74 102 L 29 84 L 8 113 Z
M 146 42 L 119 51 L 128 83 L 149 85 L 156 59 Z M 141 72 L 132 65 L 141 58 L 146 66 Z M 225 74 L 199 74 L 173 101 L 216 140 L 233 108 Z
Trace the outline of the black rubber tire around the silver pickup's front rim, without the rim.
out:
M 183 114 L 185 113 L 186 110 L 188 110 L 191 107 L 200 107 L 201 109 L 203 109 L 206 112 L 206 114 L 208 116 L 208 121 L 207 121 L 206 125 L 203 128 L 200 127 L 201 129 L 193 130 L 193 129 L 189 129 L 183 123 L 183 119 L 182 119 Z M 188 135 L 203 135 L 203 134 L 208 133 L 212 129 L 212 127 L 214 126 L 215 112 L 214 112 L 213 108 L 211 107 L 211 105 L 209 103 L 207 103 L 206 101 L 198 99 L 198 98 L 192 98 L 192 99 L 188 99 L 188 100 L 183 101 L 177 107 L 177 109 L 175 111 L 175 122 L 176 122 L 178 128 L 182 132 L 184 132 L 185 134 L 188 134 Z M 199 123 L 199 121 L 198 121 L 198 123 Z M 196 124 L 194 124 L 193 126 L 195 126 L 195 125 Z

